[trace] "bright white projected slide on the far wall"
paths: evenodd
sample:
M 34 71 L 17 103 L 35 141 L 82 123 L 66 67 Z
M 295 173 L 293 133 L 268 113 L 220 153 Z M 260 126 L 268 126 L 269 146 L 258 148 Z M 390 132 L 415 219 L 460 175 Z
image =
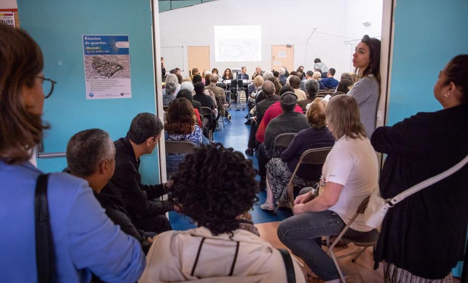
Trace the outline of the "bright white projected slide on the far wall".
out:
M 215 26 L 215 60 L 260 61 L 261 26 Z

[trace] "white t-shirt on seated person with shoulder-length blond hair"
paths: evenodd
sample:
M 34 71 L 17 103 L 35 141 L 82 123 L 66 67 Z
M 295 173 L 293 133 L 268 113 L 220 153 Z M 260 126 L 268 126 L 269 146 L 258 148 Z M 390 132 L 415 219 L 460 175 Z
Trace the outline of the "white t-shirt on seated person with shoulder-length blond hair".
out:
M 370 140 L 342 136 L 328 154 L 322 175 L 325 182 L 344 185 L 338 201 L 328 210 L 348 223 L 378 183 L 379 163 Z M 350 227 L 363 232 L 372 230 L 365 225 L 363 214 L 357 216 Z

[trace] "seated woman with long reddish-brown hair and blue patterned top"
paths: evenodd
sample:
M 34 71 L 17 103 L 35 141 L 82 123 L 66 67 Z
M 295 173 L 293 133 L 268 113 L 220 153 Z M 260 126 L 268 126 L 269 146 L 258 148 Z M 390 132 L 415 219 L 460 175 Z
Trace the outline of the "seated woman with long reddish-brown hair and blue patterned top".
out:
M 168 109 L 167 121 L 164 124 L 164 138 L 166 140 L 188 140 L 195 146 L 202 141 L 202 132 L 196 122 L 192 104 L 185 98 L 175 99 Z M 177 172 L 179 163 L 185 154 L 166 154 L 166 170 L 168 177 Z

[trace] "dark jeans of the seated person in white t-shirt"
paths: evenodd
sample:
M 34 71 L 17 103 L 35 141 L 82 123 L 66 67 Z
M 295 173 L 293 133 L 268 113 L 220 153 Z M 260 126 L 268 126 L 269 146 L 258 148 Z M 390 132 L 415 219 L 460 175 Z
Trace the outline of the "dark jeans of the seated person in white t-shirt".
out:
M 281 243 L 301 257 L 307 266 L 322 280 L 338 279 L 340 276 L 333 260 L 322 250 L 322 236 L 338 235 L 346 223 L 333 211 L 296 214 L 278 226 Z M 359 237 L 366 232 L 349 228 L 346 235 Z

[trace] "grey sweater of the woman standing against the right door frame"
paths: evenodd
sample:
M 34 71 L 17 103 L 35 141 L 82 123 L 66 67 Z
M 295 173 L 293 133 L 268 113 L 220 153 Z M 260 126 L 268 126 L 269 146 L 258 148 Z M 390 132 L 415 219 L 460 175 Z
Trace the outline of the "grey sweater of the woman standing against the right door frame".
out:
M 366 134 L 371 138 L 376 129 L 377 106 L 379 104 L 380 86 L 374 75 L 360 78 L 349 90 L 348 96 L 356 99 L 361 114 L 361 122 Z

